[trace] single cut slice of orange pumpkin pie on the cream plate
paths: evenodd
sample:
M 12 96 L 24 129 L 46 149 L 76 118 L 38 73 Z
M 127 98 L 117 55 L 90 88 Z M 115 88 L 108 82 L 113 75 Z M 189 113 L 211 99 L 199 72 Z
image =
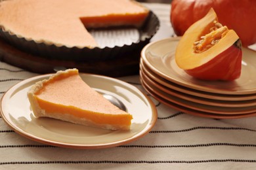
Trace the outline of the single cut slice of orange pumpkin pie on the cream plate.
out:
M 33 114 L 74 124 L 128 130 L 133 116 L 88 86 L 77 69 L 58 71 L 35 83 L 28 92 Z

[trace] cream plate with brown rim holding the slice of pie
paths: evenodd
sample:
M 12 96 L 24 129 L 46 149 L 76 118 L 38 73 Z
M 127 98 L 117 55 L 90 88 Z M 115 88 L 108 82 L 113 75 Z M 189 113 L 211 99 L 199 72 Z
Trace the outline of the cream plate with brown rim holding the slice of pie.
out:
M 154 103 L 135 86 L 115 78 L 84 73 L 80 74 L 81 78 L 97 92 L 114 95 L 123 102 L 127 112 L 133 115 L 131 130 L 111 131 L 52 118 L 35 118 L 27 92 L 35 82 L 49 76 L 35 76 L 19 82 L 3 95 L 0 103 L 3 120 L 16 133 L 33 141 L 66 148 L 108 148 L 139 139 L 156 123 Z

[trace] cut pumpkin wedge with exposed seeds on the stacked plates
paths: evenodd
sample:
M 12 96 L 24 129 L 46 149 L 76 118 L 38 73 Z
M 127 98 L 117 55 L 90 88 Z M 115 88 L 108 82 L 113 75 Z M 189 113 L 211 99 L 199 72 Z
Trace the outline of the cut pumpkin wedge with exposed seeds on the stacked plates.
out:
M 235 80 L 241 75 L 242 44 L 232 29 L 221 25 L 213 9 L 191 25 L 175 52 L 177 65 L 203 80 Z

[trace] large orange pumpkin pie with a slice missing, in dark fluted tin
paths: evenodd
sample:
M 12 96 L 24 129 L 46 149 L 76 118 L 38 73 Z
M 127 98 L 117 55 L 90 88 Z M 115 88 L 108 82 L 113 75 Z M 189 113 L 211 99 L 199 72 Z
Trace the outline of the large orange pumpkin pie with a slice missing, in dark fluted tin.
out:
M 0 26 L 30 41 L 93 48 L 88 28 L 140 27 L 148 14 L 133 0 L 8 0 L 0 3 Z

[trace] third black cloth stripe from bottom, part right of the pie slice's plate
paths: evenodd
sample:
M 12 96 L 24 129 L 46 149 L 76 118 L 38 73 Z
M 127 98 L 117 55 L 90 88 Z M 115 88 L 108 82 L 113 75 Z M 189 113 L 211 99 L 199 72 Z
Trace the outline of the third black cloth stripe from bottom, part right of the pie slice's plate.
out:
M 197 129 L 213 129 L 213 130 L 244 130 L 244 131 L 256 131 L 255 129 L 247 129 L 244 127 L 207 127 L 207 126 L 198 126 L 198 127 L 192 127 L 189 129 L 181 129 L 181 130 L 175 130 L 175 131 L 150 131 L 149 133 L 180 133 L 180 132 L 186 132 L 186 131 L 193 131 Z

